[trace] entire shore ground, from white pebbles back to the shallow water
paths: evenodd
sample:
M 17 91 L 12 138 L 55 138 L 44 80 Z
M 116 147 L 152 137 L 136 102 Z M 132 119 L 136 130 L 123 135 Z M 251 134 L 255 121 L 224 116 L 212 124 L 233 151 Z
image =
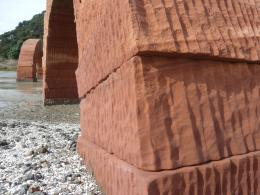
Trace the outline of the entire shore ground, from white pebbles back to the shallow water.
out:
M 41 90 L 0 71 L 0 194 L 101 194 L 75 150 L 79 105 L 44 107 Z

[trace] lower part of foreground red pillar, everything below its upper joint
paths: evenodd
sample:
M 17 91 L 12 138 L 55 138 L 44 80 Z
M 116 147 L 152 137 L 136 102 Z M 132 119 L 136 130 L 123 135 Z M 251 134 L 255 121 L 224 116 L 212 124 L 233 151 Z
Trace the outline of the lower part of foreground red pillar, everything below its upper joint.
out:
M 258 194 L 258 64 L 134 57 L 81 101 L 106 194 Z

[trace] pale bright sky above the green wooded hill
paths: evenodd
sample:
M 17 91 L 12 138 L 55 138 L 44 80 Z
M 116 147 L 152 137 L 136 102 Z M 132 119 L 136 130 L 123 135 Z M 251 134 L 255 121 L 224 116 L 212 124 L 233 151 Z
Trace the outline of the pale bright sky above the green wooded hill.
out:
M 0 0 L 0 35 L 45 10 L 46 0 Z

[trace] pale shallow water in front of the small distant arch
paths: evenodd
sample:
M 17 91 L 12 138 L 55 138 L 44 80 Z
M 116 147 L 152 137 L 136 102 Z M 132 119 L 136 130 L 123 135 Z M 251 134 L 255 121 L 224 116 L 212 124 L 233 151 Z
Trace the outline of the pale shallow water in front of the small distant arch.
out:
M 41 82 L 16 82 L 16 72 L 0 71 L 0 108 L 40 100 Z

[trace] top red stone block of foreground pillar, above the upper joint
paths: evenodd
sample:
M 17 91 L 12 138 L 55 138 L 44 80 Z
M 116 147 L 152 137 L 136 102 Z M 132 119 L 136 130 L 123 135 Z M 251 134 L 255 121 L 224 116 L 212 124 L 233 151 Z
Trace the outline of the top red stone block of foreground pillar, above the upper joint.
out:
M 74 0 L 74 4 L 80 97 L 139 54 L 259 61 L 259 0 Z

